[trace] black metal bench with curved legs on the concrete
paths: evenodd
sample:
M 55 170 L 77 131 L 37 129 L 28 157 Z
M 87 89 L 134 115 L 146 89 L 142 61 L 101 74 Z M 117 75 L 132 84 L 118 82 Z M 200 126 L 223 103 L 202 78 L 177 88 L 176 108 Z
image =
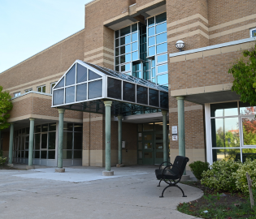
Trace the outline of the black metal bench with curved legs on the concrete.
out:
M 182 197 L 187 197 L 187 195 L 184 195 L 184 191 L 179 186 L 177 186 L 177 183 L 180 182 L 180 179 L 188 162 L 188 157 L 177 156 L 173 164 L 165 161 L 161 165 L 159 165 L 159 169 L 154 171 L 156 178 L 160 180 L 158 187 L 160 187 L 160 183 L 164 181 L 168 184 L 168 186 L 163 189 L 163 192 L 166 191 L 168 187 L 178 187 L 182 191 Z M 167 163 L 167 166 L 162 169 L 162 165 L 164 163 Z M 171 180 L 173 182 L 171 182 Z M 163 198 L 163 192 L 162 195 L 159 196 L 160 198 Z

